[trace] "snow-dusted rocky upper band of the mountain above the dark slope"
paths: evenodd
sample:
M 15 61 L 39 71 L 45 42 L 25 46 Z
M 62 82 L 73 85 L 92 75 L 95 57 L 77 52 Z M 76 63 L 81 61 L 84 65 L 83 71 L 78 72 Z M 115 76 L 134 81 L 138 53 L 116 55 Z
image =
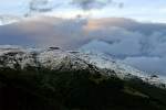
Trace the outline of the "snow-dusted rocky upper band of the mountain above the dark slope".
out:
M 51 70 L 84 70 L 117 76 L 121 79 L 138 78 L 151 85 L 165 87 L 166 80 L 156 75 L 137 70 L 98 52 L 62 51 L 59 47 L 25 48 L 0 46 L 0 68 L 24 69 L 44 67 Z

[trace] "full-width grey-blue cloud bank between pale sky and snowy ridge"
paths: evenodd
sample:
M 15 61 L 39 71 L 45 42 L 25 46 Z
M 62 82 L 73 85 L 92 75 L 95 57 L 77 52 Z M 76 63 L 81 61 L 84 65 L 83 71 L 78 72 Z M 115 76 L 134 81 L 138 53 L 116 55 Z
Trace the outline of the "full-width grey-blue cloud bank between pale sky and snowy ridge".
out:
M 165 29 L 166 24 L 120 18 L 43 16 L 0 26 L 0 44 L 101 51 L 138 69 L 166 75 Z

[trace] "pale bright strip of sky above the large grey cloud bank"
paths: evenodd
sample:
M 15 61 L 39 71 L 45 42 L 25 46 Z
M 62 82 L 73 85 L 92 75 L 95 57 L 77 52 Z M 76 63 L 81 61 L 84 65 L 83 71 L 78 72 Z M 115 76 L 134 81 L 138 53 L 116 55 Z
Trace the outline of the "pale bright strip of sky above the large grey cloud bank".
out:
M 46 14 L 59 18 L 131 18 L 165 22 L 165 0 L 0 0 L 1 15 Z M 43 9 L 43 10 L 38 10 Z

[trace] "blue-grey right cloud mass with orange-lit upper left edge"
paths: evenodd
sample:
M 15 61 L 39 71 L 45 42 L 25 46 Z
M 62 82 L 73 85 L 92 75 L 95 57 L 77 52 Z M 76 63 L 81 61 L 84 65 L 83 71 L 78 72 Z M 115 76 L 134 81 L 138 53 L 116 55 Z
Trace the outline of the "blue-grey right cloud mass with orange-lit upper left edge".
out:
M 82 50 L 100 51 L 131 66 L 166 75 L 166 24 L 138 23 L 126 19 L 89 21 L 93 40 Z

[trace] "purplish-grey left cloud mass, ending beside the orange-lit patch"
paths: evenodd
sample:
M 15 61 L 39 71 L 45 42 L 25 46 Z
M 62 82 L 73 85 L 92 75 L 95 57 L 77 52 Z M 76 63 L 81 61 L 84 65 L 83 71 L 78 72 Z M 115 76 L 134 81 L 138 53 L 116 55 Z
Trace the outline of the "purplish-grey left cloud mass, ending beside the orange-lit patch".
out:
M 76 22 L 75 20 L 55 18 L 34 18 L 32 21 L 28 20 L 3 25 L 0 26 L 0 44 L 15 43 L 15 45 L 19 45 L 21 41 L 18 37 L 22 37 L 22 42 L 25 42 L 28 38 L 28 41 L 33 41 L 33 45 L 40 47 L 60 46 L 65 50 L 71 50 L 77 47 L 79 44 L 81 45 L 84 41 L 85 33 L 82 29 L 84 23 L 86 23 L 86 20 Z M 6 40 L 7 36 L 11 38 L 10 42 Z M 18 42 L 13 42 L 13 37 L 15 37 Z M 31 46 L 32 43 L 29 43 L 30 42 L 27 42 L 24 45 Z

